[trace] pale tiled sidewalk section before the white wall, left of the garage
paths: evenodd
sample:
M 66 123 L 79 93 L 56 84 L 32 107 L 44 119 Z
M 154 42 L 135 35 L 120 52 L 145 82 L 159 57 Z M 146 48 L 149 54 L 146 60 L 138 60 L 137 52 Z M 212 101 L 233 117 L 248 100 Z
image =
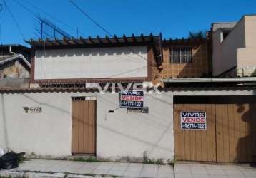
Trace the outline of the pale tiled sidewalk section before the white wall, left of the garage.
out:
M 5 171 L 6 172 L 6 171 Z M 121 162 L 74 162 L 63 160 L 31 159 L 11 172 L 48 173 L 58 177 L 67 174 L 84 176 L 109 177 L 147 177 L 147 178 L 173 178 L 174 172 L 170 165 L 154 165 Z M 0 172 L 1 175 L 4 171 Z M 59 174 L 63 173 L 63 174 Z M 54 177 L 54 176 L 52 176 Z

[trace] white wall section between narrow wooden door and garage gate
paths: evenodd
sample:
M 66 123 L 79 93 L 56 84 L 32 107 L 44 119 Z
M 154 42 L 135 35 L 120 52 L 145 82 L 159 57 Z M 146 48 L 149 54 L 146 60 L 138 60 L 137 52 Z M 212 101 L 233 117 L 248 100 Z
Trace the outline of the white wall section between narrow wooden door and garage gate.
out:
M 172 159 L 174 155 L 172 95 L 157 98 L 146 95 L 144 106 L 149 114 L 131 114 L 120 108 L 114 114 L 107 110 L 119 107 L 118 95 L 97 97 L 97 155 L 115 159 L 142 157 L 147 151 L 154 159 Z M 104 108 L 101 110 L 100 108 Z M 99 118 L 100 117 L 100 118 Z

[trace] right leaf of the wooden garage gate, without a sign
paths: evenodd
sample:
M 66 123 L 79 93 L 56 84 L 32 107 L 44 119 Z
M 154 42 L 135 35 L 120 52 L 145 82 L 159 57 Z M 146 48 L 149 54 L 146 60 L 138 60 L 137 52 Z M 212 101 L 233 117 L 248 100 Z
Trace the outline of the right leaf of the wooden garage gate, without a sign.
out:
M 256 104 L 217 104 L 217 162 L 255 162 Z

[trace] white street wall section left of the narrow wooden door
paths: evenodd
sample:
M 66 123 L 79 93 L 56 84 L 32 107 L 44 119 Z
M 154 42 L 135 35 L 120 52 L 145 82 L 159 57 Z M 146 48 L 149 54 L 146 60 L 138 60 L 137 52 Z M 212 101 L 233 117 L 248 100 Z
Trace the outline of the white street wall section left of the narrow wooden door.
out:
M 56 98 L 58 96 L 58 98 Z M 6 120 L 5 142 L 16 152 L 69 155 L 71 142 L 70 100 L 65 93 L 1 95 L 1 120 Z M 25 113 L 23 107 L 42 107 L 42 114 Z M 4 113 L 5 114 L 4 114 Z M 4 125 L 1 125 L 4 127 Z

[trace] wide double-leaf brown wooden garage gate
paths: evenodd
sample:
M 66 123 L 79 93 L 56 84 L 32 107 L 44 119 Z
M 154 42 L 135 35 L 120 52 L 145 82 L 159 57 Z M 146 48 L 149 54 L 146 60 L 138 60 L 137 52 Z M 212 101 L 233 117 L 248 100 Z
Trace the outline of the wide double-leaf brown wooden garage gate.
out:
M 207 162 L 256 161 L 256 98 L 174 98 L 176 159 Z M 205 129 L 182 127 L 182 112 L 205 112 Z M 190 118 L 191 119 L 191 118 Z

